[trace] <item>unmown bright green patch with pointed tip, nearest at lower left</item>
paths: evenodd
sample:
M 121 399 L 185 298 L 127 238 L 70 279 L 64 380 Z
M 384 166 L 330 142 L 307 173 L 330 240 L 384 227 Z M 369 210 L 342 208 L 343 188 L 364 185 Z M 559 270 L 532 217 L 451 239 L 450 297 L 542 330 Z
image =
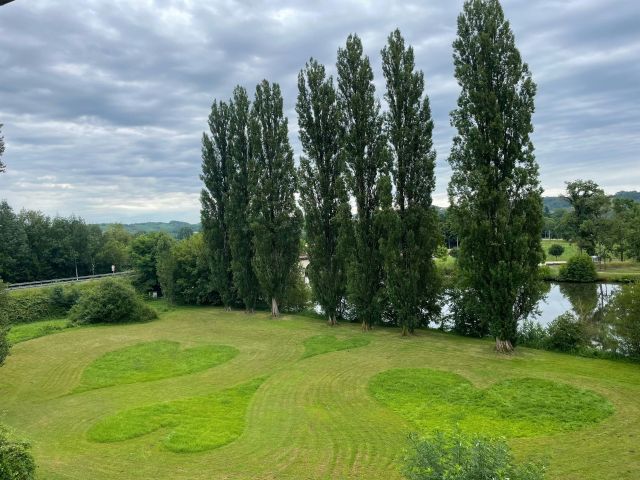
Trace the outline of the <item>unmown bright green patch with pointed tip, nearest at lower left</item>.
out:
M 264 378 L 208 395 L 126 410 L 94 425 L 95 442 L 120 442 L 159 429 L 163 445 L 177 453 L 201 452 L 233 442 L 244 430 L 247 407 Z

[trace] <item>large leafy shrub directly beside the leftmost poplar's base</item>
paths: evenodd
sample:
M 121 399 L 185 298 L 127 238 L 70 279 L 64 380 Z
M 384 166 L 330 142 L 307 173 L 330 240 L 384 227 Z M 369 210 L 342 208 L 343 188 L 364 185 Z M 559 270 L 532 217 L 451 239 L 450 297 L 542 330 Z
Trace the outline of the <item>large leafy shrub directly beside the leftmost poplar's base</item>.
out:
M 174 243 L 158 256 L 162 294 L 173 303 L 205 305 L 219 300 L 210 279 L 208 255 L 202 234 Z

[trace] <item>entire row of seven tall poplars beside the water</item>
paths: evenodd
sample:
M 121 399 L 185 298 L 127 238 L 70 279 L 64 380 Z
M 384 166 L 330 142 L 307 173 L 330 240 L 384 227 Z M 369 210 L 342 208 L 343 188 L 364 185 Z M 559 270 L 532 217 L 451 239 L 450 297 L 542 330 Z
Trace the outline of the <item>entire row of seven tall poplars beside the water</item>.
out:
M 357 35 L 338 50 L 335 83 L 313 59 L 302 69 L 298 169 L 277 84 L 260 83 L 251 104 L 242 87 L 214 101 L 203 136 L 202 223 L 225 306 L 237 296 L 252 310 L 265 298 L 278 315 L 304 222 L 308 276 L 329 323 L 345 302 L 365 330 L 387 317 L 407 334 L 439 312 L 424 75 L 399 30 L 381 54 L 384 112 Z M 497 0 L 465 3 L 454 64 L 461 93 L 449 194 L 460 292 L 474 321 L 510 350 L 537 300 L 542 203 L 529 139 L 535 85 Z

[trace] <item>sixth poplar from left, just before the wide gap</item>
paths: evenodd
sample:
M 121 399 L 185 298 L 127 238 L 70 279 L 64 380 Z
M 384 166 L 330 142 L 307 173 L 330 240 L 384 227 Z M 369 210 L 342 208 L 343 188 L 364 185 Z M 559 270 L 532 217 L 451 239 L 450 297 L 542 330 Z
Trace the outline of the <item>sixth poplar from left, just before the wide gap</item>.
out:
M 415 71 L 412 47 L 400 30 L 382 50 L 389 110 L 384 115 L 390 143 L 394 207 L 383 242 L 385 286 L 402 334 L 413 333 L 438 312 L 438 275 L 433 255 L 439 240 L 431 206 L 436 152 L 424 75 Z

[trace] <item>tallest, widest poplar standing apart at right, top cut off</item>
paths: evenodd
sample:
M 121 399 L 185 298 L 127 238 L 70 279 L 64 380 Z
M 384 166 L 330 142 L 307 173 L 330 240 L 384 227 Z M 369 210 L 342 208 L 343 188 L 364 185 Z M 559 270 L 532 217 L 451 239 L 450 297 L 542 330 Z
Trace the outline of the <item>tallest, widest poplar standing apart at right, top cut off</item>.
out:
M 530 134 L 536 86 L 498 0 L 467 0 L 453 43 L 461 87 L 449 162 L 462 304 L 508 352 L 541 295 L 542 190 Z

